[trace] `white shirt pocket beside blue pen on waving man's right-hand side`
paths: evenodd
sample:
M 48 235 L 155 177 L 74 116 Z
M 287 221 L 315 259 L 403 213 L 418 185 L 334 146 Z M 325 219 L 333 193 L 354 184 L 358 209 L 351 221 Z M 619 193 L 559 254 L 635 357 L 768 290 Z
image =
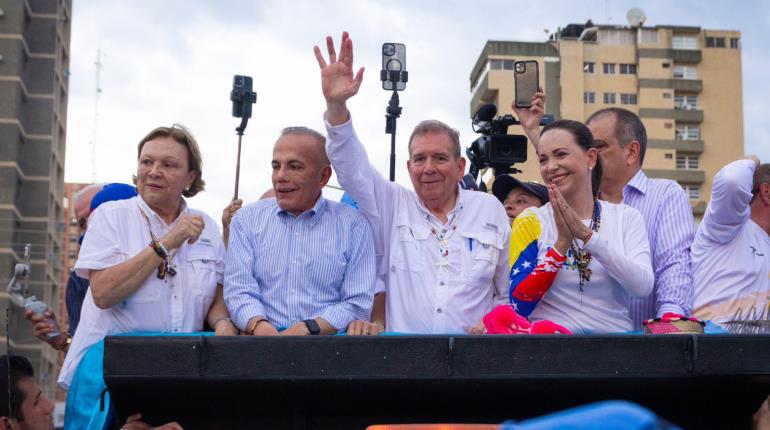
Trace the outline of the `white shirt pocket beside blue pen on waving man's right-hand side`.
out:
M 461 235 L 470 251 L 464 259 L 466 284 L 478 288 L 489 287 L 503 250 L 503 235 L 494 231 L 468 231 Z

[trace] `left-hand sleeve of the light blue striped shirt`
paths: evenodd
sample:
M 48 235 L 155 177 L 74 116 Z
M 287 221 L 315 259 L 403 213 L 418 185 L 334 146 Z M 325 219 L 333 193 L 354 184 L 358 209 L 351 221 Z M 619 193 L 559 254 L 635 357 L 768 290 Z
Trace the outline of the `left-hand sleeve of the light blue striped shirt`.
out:
M 247 235 L 245 218 L 236 213 L 230 223 L 225 267 L 224 298 L 230 317 L 242 330 L 249 320 L 265 315 L 260 285 L 253 275 L 254 244 Z

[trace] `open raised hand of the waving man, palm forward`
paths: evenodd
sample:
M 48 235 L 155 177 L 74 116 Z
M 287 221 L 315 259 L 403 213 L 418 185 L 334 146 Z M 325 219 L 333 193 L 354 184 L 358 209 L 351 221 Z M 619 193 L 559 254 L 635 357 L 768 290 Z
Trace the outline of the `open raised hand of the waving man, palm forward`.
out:
M 331 36 L 326 36 L 326 49 L 329 52 L 328 63 L 321 54 L 321 48 L 313 47 L 321 68 L 321 89 L 326 98 L 327 121 L 339 125 L 348 120 L 345 102 L 358 93 L 364 79 L 364 68 L 358 69 L 353 76 L 353 40 L 347 31 L 342 33 L 339 58 Z

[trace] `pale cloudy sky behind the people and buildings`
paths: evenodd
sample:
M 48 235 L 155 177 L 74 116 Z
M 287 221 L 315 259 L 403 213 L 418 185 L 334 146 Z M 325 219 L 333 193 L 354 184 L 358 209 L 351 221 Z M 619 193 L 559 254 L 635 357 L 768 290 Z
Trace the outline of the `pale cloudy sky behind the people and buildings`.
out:
M 366 67 L 349 107 L 370 160 L 387 176 L 390 140 L 384 114 L 390 94 L 379 81 L 380 46 L 406 44 L 409 83 L 401 93 L 396 176 L 411 186 L 406 139 L 417 122 L 436 118 L 457 127 L 464 146 L 475 139 L 468 119 L 469 75 L 487 40 L 543 41 L 545 29 L 588 19 L 626 24 L 626 12 L 640 5 L 575 0 L 73 3 L 66 181 L 130 182 L 137 142 L 158 125 L 181 123 L 198 139 L 207 182 L 206 191 L 190 204 L 215 219 L 232 196 L 235 179 L 238 121 L 230 116 L 229 101 L 234 74 L 253 76 L 258 93 L 241 160 L 240 194 L 252 201 L 270 187 L 271 149 L 281 128 L 305 125 L 324 131 L 312 47 L 327 34 L 338 43 L 342 30 L 354 41 L 355 67 Z M 746 153 L 770 160 L 770 3 L 665 0 L 645 1 L 642 8 L 646 25 L 742 32 Z M 97 49 L 103 66 L 95 122 Z M 326 195 L 339 197 L 333 190 Z

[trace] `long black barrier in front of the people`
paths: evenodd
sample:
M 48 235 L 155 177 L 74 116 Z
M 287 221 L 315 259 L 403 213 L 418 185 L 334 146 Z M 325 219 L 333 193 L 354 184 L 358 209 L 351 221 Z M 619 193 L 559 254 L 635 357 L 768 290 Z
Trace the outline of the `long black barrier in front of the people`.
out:
M 108 337 L 118 416 L 185 429 L 521 420 L 607 399 L 750 428 L 770 336 Z

